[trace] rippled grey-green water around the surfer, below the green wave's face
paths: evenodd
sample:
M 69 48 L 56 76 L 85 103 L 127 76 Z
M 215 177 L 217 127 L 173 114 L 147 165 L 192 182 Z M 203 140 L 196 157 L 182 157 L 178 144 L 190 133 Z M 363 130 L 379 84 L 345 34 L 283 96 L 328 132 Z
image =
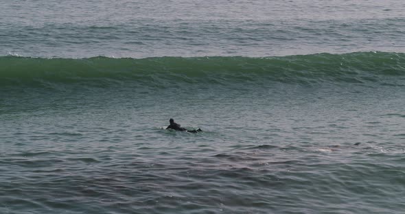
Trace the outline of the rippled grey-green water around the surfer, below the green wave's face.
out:
M 402 88 L 284 87 L 21 94 L 2 108 L 0 210 L 400 213 Z

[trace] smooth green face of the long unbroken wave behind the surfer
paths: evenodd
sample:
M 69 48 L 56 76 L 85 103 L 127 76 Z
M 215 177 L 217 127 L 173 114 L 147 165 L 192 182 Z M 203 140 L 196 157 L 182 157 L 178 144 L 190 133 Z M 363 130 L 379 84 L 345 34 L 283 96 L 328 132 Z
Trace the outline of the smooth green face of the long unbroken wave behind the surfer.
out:
M 184 84 L 384 84 L 404 86 L 405 53 L 319 53 L 269 58 L 0 58 L 0 87 Z

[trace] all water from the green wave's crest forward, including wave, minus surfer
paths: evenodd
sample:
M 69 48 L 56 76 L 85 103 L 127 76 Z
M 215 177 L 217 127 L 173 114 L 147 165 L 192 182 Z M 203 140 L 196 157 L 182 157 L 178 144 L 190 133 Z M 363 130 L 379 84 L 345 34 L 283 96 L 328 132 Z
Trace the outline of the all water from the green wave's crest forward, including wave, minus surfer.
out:
M 404 209 L 403 53 L 0 64 L 1 213 Z

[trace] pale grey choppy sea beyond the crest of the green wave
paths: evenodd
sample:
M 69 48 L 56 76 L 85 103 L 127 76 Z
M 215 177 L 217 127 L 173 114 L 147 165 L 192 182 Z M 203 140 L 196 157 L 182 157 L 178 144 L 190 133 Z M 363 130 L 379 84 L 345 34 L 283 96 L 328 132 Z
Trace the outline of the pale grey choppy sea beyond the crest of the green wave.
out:
M 405 48 L 401 0 L 0 3 L 3 56 L 262 57 Z

